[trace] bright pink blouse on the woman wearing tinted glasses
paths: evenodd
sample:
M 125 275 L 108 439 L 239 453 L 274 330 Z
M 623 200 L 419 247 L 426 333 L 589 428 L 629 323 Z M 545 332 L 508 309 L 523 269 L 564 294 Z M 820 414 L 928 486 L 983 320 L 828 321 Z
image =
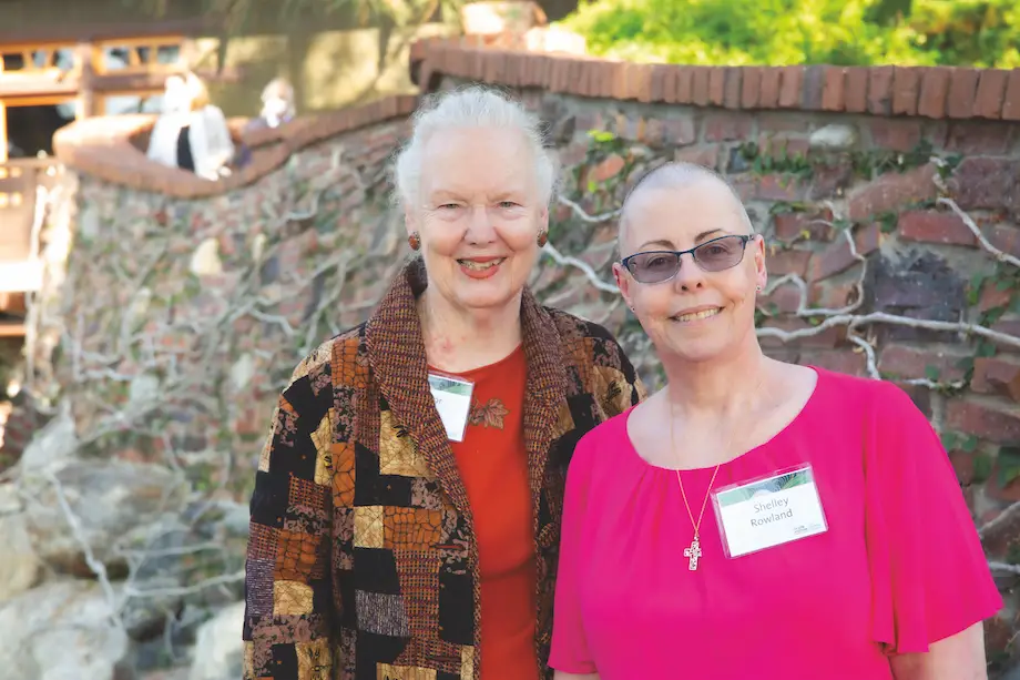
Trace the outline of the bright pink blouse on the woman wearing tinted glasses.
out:
M 1002 599 L 948 456 L 890 383 L 815 368 L 800 414 L 724 464 L 714 488 L 803 463 L 828 530 L 734 559 L 713 505 L 702 557 L 675 471 L 641 458 L 630 410 L 578 444 L 567 481 L 549 664 L 601 680 L 890 680 Z M 682 471 L 697 517 L 714 468 Z

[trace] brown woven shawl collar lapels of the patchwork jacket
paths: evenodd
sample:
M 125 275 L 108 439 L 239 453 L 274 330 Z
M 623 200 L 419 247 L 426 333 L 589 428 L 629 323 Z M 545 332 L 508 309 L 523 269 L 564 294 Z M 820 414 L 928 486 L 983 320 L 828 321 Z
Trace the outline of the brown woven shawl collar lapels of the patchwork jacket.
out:
M 453 506 L 473 524 L 467 489 L 429 392 L 428 359 L 416 307 L 416 300 L 427 285 L 420 260 L 411 261 L 397 276 L 368 321 L 365 332 L 368 361 L 397 422 L 414 437 L 419 454 Z M 524 445 L 537 531 L 549 445 L 559 404 L 565 397 L 567 379 L 555 324 L 528 288 L 521 300 L 521 331 L 528 362 Z

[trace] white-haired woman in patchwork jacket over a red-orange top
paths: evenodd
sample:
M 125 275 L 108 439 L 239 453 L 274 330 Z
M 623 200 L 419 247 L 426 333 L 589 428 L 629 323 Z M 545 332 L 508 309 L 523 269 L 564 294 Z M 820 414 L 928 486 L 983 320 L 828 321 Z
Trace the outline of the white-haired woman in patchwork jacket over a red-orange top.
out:
M 554 175 L 499 94 L 416 115 L 395 179 L 420 257 L 297 367 L 258 466 L 249 680 L 551 677 L 567 464 L 643 396 L 604 328 L 526 286 Z

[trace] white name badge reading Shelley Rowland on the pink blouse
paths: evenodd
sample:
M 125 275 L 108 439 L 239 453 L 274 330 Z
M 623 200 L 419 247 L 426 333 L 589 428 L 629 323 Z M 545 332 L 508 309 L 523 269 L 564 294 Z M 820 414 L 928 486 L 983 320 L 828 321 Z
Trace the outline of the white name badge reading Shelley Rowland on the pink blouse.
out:
M 731 558 L 828 530 L 810 465 L 722 487 L 712 503 Z

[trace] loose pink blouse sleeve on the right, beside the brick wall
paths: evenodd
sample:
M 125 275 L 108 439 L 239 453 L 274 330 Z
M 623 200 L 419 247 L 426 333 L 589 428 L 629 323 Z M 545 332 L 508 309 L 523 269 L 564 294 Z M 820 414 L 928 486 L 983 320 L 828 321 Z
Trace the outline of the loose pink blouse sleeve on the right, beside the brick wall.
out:
M 866 475 L 871 635 L 888 653 L 928 646 L 1002 607 L 949 456 L 899 387 L 873 395 Z

